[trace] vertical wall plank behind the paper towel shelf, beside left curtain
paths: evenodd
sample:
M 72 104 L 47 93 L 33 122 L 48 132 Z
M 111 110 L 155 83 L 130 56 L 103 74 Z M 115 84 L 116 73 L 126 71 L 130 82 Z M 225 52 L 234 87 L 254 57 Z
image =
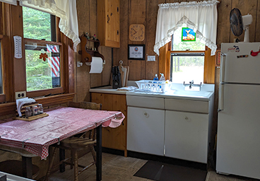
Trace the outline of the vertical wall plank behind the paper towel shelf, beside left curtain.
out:
M 82 35 L 83 32 L 90 32 L 90 0 L 78 0 L 77 13 L 78 13 L 78 32 Z M 78 49 L 81 45 L 78 45 Z M 81 62 L 81 55 L 76 54 L 76 62 Z M 76 64 L 75 62 L 75 64 Z M 83 64 L 81 67 L 76 67 L 76 101 L 90 101 L 90 66 Z

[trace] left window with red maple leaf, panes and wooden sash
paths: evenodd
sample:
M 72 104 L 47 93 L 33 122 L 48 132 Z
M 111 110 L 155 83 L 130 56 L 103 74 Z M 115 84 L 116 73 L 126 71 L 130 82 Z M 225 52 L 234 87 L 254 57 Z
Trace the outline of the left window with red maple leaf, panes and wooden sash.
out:
M 23 35 L 28 95 L 62 93 L 62 44 L 56 42 L 55 16 L 23 6 Z

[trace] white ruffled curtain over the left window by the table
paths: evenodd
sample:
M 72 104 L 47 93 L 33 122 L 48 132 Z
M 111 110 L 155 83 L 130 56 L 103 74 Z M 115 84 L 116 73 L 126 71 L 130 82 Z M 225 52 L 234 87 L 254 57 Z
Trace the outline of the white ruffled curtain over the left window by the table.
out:
M 16 0 L 0 0 L 8 4 L 16 4 Z M 60 19 L 59 29 L 73 41 L 76 52 L 77 45 L 81 42 L 78 37 L 78 16 L 76 0 L 19 0 L 21 6 L 35 8 L 57 16 Z

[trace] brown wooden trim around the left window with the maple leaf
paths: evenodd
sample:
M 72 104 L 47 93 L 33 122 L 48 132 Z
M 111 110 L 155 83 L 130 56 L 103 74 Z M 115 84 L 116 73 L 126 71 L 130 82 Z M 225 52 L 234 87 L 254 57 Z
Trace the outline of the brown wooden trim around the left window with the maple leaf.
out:
M 26 91 L 26 72 L 25 72 L 25 40 L 23 38 L 23 11 L 22 6 L 14 6 L 0 2 L 0 36 L 3 38 L 4 46 L 1 47 L 2 63 L 4 64 L 4 95 L 0 95 L 0 117 L 6 115 L 13 116 L 16 114 L 16 98 L 15 93 L 17 91 Z M 27 97 L 33 97 L 38 103 L 42 103 L 44 107 L 62 105 L 69 101 L 72 101 L 75 93 L 74 86 L 74 57 L 73 42 L 63 33 L 59 31 L 59 18 L 56 17 L 56 37 L 57 42 L 61 44 L 60 51 L 63 56 L 64 64 L 62 70 L 64 78 L 61 79 L 64 90 L 62 94 L 52 95 L 45 97 L 45 93 L 38 98 L 37 93 L 28 93 Z M 13 57 L 13 36 L 18 35 L 22 37 L 22 59 L 16 59 Z M 57 43 L 56 42 L 56 43 Z M 5 98 L 4 98 L 5 96 Z

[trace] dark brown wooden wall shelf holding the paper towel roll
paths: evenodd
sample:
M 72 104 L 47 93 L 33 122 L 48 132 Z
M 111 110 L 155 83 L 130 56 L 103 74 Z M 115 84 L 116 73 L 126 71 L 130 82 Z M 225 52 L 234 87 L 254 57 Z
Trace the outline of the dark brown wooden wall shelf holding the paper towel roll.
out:
M 98 52 L 98 47 L 100 46 L 100 40 L 90 40 L 85 37 L 85 34 L 81 35 L 81 50 L 78 54 L 81 54 L 81 62 L 86 65 L 90 65 L 92 62 L 92 57 L 100 57 L 103 60 L 103 65 L 105 64 L 105 59 L 100 52 Z M 88 63 L 88 64 L 87 64 Z

